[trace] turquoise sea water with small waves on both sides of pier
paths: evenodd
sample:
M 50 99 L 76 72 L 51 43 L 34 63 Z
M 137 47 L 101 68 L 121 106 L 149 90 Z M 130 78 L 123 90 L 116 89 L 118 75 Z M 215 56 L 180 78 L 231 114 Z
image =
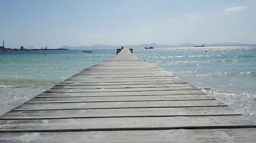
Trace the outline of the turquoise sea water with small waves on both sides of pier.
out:
M 139 58 L 173 73 L 237 112 L 256 114 L 256 46 L 133 50 Z M 0 115 L 116 55 L 115 49 L 92 51 L 0 52 Z

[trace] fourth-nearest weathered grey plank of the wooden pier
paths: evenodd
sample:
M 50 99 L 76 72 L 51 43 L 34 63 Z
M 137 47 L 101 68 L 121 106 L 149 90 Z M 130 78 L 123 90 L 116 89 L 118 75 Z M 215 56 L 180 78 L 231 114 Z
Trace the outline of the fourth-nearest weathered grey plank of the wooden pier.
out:
M 177 101 L 131 101 L 131 102 L 85 102 L 85 103 L 30 103 L 14 110 L 60 110 L 60 109 L 109 109 L 109 108 L 157 108 L 157 107 L 205 107 L 226 106 L 218 100 Z

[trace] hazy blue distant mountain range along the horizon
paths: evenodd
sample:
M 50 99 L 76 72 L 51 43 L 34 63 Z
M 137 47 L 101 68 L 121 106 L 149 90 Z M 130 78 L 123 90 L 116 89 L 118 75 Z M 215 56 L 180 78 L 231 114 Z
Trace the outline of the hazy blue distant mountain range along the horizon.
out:
M 224 42 L 224 43 L 213 43 L 213 44 L 192 44 L 192 43 L 183 43 L 179 45 L 158 45 L 156 43 L 152 44 L 141 44 L 141 45 L 101 45 L 101 44 L 95 44 L 93 46 L 62 46 L 59 48 L 62 49 L 117 49 L 123 46 L 124 48 L 144 48 L 144 47 L 154 47 L 154 48 L 167 48 L 167 47 L 194 47 L 194 46 L 242 46 L 242 45 L 250 45 L 245 43 L 230 43 L 230 42 Z

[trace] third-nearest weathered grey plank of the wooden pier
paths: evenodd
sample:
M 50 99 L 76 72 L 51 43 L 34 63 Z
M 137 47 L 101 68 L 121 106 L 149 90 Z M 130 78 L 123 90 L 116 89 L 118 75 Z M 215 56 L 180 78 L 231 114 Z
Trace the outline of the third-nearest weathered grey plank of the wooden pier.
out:
M 0 120 L 240 115 L 229 107 L 132 108 L 11 111 Z

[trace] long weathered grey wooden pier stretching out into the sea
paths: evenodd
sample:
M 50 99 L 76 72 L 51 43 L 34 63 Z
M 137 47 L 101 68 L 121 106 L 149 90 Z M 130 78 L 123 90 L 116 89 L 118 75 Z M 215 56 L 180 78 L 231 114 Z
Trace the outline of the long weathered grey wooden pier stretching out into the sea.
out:
M 255 128 L 123 49 L 0 117 L 0 142 L 256 142 Z

